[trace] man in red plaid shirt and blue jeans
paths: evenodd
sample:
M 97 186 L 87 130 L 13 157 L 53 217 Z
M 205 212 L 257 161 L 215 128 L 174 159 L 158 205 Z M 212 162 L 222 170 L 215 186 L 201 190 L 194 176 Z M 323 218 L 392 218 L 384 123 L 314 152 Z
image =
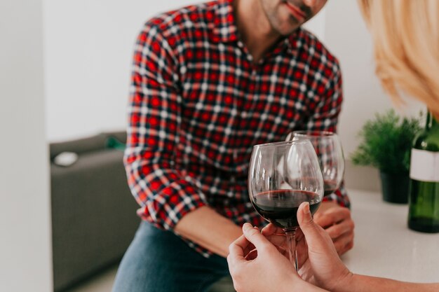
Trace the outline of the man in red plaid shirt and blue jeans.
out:
M 339 65 L 300 28 L 325 2 L 220 0 L 147 22 L 124 160 L 144 221 L 114 291 L 205 291 L 228 274 L 239 225 L 264 225 L 247 192 L 252 146 L 336 130 Z M 331 198 L 316 220 L 341 254 L 353 241 L 349 200 Z

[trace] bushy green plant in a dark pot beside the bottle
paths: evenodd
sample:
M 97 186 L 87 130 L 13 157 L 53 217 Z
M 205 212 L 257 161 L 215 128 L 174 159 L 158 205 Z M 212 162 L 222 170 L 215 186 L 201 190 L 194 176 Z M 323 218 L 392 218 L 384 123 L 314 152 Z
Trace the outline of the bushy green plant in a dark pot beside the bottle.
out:
M 410 151 L 420 118 L 400 118 L 395 111 L 377 113 L 360 130 L 360 145 L 351 155 L 354 165 L 379 169 L 383 199 L 405 204 L 408 201 Z

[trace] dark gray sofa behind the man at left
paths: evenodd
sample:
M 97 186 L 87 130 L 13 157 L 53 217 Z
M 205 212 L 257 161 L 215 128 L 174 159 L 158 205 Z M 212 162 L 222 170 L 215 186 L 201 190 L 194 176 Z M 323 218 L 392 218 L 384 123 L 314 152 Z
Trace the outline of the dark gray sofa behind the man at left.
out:
M 50 144 L 55 291 L 118 263 L 140 223 L 118 140 L 124 143 L 126 134 Z M 78 155 L 76 162 L 56 165 L 66 151 Z

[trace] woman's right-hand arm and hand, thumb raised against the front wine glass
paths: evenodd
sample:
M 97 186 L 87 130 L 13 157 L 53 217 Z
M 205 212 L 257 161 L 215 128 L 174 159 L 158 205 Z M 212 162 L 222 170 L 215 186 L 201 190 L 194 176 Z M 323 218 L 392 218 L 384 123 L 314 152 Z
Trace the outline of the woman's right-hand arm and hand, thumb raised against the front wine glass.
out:
M 327 232 L 313 222 L 309 204 L 303 203 L 297 211 L 300 225 L 297 254 L 306 258 L 302 263 L 302 278 L 332 292 L 430 292 L 439 291 L 439 284 L 417 284 L 395 281 L 378 277 L 369 277 L 351 273 L 342 263 L 335 246 Z M 286 246 L 285 236 L 278 234 L 282 230 L 270 224 L 262 234 L 276 246 Z

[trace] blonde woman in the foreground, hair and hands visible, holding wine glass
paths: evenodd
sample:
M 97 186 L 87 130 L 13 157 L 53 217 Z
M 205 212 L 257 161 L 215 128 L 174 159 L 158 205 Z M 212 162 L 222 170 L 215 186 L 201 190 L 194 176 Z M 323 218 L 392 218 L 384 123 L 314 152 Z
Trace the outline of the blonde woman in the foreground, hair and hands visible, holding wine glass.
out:
M 377 76 L 384 89 L 397 104 L 403 102 L 400 91 L 419 99 L 438 119 L 439 1 L 358 0 L 358 4 L 373 36 Z M 308 203 L 299 207 L 297 218 L 302 230 L 297 235 L 302 278 L 283 256 L 285 237 L 278 235 L 283 233 L 280 228 L 270 224 L 261 234 L 246 223 L 227 258 L 238 292 L 439 291 L 439 284 L 351 273 L 324 230 L 313 223 Z

